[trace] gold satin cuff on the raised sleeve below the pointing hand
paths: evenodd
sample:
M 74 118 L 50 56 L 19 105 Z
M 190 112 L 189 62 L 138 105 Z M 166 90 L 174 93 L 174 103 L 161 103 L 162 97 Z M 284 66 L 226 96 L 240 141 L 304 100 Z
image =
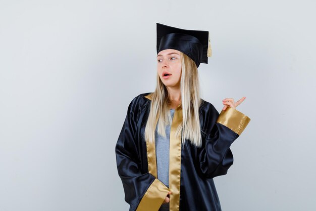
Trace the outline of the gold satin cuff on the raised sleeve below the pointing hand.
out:
M 222 110 L 216 122 L 227 126 L 239 136 L 245 130 L 250 118 L 234 108 L 228 107 Z

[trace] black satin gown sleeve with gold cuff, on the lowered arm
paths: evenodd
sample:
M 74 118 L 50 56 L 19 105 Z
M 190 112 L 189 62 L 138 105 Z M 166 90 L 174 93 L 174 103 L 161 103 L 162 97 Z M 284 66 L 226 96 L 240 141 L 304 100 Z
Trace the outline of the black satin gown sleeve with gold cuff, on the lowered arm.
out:
M 139 140 L 136 140 L 140 100 L 138 96 L 128 106 L 127 115 L 115 147 L 117 168 L 123 183 L 125 201 L 130 204 L 129 210 L 157 211 L 170 190 L 150 173 L 140 171 L 138 165 L 140 163 Z

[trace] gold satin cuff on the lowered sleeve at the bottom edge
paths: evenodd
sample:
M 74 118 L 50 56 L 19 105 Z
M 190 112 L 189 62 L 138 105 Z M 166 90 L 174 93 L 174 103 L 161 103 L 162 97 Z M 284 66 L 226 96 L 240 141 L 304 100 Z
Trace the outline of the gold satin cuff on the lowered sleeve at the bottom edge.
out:
M 136 211 L 157 211 L 169 193 L 169 188 L 157 178 L 151 183 Z

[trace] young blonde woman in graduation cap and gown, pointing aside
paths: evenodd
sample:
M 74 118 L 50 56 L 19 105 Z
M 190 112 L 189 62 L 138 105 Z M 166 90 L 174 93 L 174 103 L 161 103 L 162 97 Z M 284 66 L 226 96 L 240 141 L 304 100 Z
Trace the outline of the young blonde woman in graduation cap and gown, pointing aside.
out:
M 157 23 L 157 85 L 135 97 L 116 144 L 130 211 L 221 210 L 213 178 L 233 164 L 230 146 L 250 119 L 223 100 L 221 114 L 200 98 L 197 67 L 207 31 Z

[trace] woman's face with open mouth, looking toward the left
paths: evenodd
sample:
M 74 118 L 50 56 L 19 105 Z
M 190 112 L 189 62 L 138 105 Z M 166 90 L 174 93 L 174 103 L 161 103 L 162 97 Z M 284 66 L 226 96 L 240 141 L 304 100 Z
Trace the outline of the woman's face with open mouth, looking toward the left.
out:
M 159 52 L 157 55 L 157 73 L 166 87 L 180 89 L 180 51 L 166 49 Z

